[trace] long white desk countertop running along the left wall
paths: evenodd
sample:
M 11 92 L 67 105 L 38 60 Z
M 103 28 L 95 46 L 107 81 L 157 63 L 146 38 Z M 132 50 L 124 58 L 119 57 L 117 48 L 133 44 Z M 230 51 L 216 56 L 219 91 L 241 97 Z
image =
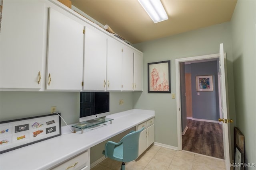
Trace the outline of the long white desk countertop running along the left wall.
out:
M 119 133 L 154 117 L 151 110 L 132 109 L 108 115 L 112 124 L 86 131 L 69 133 L 0 154 L 1 170 L 49 169 Z

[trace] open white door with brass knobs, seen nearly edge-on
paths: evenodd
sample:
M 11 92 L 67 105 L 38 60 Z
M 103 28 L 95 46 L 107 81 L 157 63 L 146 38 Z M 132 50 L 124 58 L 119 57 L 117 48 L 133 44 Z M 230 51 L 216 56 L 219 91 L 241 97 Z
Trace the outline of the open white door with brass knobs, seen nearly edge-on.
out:
M 220 57 L 219 57 L 219 72 L 220 72 L 220 93 L 221 93 L 221 119 L 222 133 L 223 133 L 223 147 L 224 158 L 226 162 L 226 169 L 230 168 L 230 155 L 229 155 L 229 141 L 228 141 L 228 114 L 227 114 L 227 100 L 226 100 L 226 78 L 225 78 L 225 63 L 224 63 L 224 49 L 223 43 L 220 44 Z

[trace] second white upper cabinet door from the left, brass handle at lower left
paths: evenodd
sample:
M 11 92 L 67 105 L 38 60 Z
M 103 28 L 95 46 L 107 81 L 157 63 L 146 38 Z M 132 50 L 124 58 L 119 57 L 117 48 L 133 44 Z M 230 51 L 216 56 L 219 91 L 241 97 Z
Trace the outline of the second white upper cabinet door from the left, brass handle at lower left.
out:
M 47 90 L 82 90 L 84 26 L 50 8 Z

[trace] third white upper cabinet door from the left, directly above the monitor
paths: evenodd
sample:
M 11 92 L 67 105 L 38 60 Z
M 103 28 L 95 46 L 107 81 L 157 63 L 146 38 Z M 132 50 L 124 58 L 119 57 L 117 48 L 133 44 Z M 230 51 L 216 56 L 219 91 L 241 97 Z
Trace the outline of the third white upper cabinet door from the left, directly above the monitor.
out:
M 84 90 L 106 90 L 107 37 L 86 27 L 84 43 Z

